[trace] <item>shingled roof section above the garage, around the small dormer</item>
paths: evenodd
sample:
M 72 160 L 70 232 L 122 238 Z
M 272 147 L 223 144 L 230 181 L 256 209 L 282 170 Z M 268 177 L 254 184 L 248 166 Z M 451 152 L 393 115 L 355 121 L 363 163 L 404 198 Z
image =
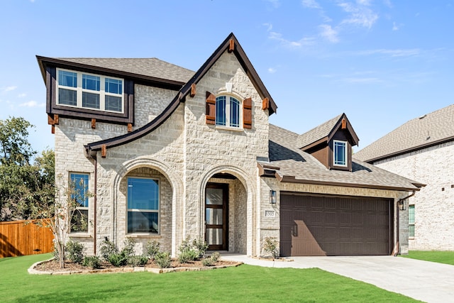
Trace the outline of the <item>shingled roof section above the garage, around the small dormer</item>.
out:
M 270 162 L 259 162 L 271 167 L 281 182 L 329 184 L 392 190 L 418 190 L 423 184 L 395 175 L 366 162 L 353 160 L 352 171 L 328 170 L 319 160 L 297 148 L 297 133 L 270 124 Z

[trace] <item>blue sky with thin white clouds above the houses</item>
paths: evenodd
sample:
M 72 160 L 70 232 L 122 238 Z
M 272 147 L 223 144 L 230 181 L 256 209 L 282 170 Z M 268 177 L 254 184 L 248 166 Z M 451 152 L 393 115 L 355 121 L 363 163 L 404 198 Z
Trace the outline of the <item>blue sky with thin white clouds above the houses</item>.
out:
M 0 0 L 0 120 L 54 147 L 36 55 L 198 70 L 233 32 L 295 133 L 345 113 L 360 150 L 454 103 L 454 0 Z

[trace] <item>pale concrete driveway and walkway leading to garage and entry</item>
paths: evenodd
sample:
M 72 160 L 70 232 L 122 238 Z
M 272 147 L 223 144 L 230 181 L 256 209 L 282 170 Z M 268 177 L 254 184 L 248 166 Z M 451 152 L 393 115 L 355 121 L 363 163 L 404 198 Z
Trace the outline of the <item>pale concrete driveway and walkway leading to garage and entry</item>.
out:
M 275 268 L 320 268 L 423 302 L 454 302 L 454 266 L 392 256 L 293 257 L 291 262 L 223 253 L 226 260 Z

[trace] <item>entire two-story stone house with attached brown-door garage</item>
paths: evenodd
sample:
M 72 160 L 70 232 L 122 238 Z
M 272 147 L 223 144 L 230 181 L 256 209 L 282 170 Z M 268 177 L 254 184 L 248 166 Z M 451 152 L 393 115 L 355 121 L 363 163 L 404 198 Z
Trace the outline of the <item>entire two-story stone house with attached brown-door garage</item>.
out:
M 301 136 L 270 125 L 275 101 L 233 34 L 196 72 L 155 58 L 38 64 L 56 175 L 95 193 L 70 235 L 89 253 L 105 237 L 172 255 L 185 238 L 255 256 L 267 237 L 281 255 L 408 250 L 398 206 L 421 184 L 353 161 L 345 114 Z

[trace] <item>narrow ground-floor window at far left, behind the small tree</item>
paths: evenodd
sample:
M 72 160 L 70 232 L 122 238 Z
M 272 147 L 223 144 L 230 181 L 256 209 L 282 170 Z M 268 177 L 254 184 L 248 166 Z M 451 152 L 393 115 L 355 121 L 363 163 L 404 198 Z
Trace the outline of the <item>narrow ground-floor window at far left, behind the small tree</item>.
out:
M 88 232 L 88 185 L 89 174 L 70 173 L 71 199 L 77 204 L 74 211 L 72 211 L 71 232 Z

